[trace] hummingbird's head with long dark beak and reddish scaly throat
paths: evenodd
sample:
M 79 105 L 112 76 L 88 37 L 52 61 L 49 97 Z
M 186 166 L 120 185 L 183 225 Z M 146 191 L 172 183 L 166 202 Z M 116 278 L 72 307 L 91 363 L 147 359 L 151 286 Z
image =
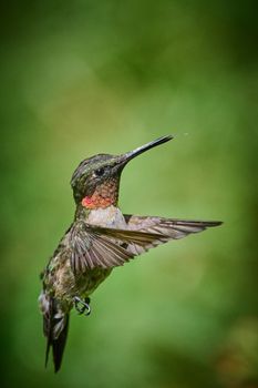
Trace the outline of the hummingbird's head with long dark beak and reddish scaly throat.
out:
M 122 155 L 99 154 L 82 161 L 71 180 L 75 203 L 92 210 L 116 205 L 120 176 L 128 161 L 171 139 L 159 137 Z

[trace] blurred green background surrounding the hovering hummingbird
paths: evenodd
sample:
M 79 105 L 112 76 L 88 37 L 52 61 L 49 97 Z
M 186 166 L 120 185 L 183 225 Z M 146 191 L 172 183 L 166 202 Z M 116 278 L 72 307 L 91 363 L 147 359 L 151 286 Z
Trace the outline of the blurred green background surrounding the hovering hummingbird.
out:
M 257 25 L 255 1 L 1 3 L 2 387 L 258 387 Z M 121 208 L 225 225 L 115 269 L 54 375 L 39 273 L 72 172 L 168 133 Z

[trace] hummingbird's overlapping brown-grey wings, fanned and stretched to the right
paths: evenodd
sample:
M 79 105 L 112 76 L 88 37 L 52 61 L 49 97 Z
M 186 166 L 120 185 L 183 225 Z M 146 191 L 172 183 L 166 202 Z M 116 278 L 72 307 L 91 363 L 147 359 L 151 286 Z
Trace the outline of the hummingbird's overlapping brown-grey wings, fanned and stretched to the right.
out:
M 135 256 L 220 222 L 183 221 L 125 215 L 128 229 L 102 227 L 80 222 L 71 229 L 71 267 L 75 274 L 96 267 L 121 266 Z

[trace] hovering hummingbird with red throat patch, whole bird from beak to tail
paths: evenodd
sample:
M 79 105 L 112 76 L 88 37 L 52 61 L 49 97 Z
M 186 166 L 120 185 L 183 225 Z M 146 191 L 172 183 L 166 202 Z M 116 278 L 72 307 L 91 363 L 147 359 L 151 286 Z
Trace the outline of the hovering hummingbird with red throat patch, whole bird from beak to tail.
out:
M 72 175 L 74 219 L 41 274 L 39 297 L 47 337 L 45 366 L 52 348 L 55 372 L 61 367 L 71 309 L 89 315 L 90 295 L 115 267 L 159 244 L 221 224 L 121 212 L 118 190 L 125 165 L 172 139 L 163 136 L 122 155 L 85 159 Z

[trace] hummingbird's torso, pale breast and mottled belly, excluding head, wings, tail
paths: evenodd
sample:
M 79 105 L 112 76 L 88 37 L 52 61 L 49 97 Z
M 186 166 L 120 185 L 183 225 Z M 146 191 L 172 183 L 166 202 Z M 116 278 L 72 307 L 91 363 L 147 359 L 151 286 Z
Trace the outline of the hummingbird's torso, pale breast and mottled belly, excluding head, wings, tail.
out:
M 112 272 L 112 268 L 96 267 L 78 276 L 74 275 L 70 264 L 71 244 L 72 238 L 81 238 L 80 231 L 84 223 L 111 228 L 127 228 L 122 212 L 114 205 L 92 211 L 81 207 L 80 212 L 76 212 L 74 223 L 61 239 L 43 275 L 43 283 L 49 294 L 60 300 L 63 310 L 68 313 L 73 307 L 75 296 L 81 299 L 89 297 Z

